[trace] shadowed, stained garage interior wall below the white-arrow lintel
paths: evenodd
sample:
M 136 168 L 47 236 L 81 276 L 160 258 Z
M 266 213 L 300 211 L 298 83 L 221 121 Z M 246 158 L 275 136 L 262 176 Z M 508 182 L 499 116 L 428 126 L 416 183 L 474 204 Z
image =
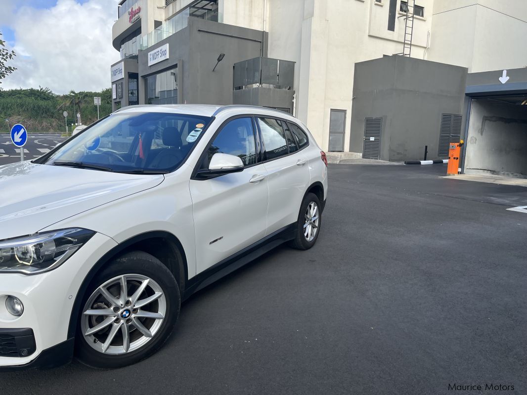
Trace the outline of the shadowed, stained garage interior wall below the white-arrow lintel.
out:
M 474 99 L 465 173 L 527 177 L 527 106 Z

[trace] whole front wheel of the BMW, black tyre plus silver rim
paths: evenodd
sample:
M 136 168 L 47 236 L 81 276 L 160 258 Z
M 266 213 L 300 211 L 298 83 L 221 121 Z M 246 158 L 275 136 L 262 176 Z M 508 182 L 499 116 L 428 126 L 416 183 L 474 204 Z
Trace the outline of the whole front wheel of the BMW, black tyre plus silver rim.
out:
M 126 299 L 121 299 L 123 283 Z M 178 283 L 167 266 L 141 251 L 120 256 L 97 273 L 84 295 L 77 359 L 93 368 L 114 369 L 150 357 L 172 332 L 180 304 Z

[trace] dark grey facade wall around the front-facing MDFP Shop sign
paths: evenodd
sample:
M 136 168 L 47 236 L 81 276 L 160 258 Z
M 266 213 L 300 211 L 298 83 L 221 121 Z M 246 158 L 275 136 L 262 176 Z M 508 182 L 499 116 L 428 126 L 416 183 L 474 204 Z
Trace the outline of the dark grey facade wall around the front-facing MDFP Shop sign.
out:
M 261 41 L 261 31 L 189 18 L 186 28 L 139 51 L 140 103 L 145 102 L 142 77 L 178 65 L 180 103 L 232 104 L 232 67 L 236 62 L 260 56 Z M 165 43 L 169 43 L 169 59 L 149 67 L 148 53 Z M 220 53 L 225 57 L 212 72 Z

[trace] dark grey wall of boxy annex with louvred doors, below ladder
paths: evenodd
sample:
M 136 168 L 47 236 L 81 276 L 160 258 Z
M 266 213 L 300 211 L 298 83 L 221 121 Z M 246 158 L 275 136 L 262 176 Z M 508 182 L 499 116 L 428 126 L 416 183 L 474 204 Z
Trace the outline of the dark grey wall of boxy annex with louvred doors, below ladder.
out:
M 403 56 L 355 64 L 350 151 L 362 152 L 365 117 L 382 117 L 380 159 L 437 156 L 442 113 L 461 114 L 467 69 Z

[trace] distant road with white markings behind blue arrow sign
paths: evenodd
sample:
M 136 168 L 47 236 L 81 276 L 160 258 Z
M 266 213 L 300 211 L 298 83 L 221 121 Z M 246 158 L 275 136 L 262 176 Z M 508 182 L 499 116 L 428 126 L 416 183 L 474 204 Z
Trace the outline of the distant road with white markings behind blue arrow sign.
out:
M 30 134 L 24 146 L 24 159 L 35 159 L 50 151 L 55 145 L 66 140 L 60 133 L 34 133 Z M 11 141 L 8 133 L 0 134 L 0 165 L 18 162 L 20 150 Z

